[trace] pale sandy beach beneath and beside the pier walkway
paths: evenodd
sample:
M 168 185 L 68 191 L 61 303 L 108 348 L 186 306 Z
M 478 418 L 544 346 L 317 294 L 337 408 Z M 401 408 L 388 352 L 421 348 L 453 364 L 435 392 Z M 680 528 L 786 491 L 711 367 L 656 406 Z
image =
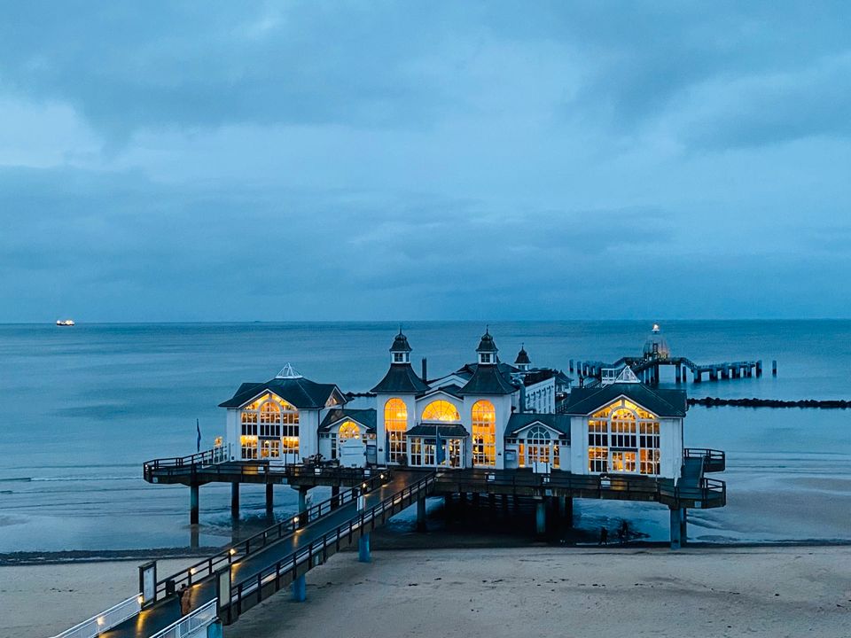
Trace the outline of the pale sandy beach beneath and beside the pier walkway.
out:
M 308 574 L 306 603 L 282 592 L 225 635 L 839 638 L 851 635 L 849 565 L 849 547 L 343 553 Z M 0 567 L 0 636 L 54 634 L 136 579 L 133 562 Z

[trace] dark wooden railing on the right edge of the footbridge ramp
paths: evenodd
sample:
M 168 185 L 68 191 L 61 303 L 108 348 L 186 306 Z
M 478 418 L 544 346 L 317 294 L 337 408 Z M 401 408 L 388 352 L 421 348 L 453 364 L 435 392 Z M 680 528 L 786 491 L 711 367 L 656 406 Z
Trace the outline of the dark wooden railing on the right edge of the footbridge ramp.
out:
M 433 473 L 420 478 L 416 483 L 404 487 L 371 508 L 359 511 L 355 517 L 311 541 L 307 547 L 296 549 L 289 556 L 284 556 L 256 575 L 231 584 L 230 605 L 220 610 L 220 617 L 227 619 L 227 622 L 232 622 L 243 611 L 262 602 L 264 587 L 268 588 L 272 585 L 271 588 L 277 591 L 317 564 L 324 563 L 329 553 L 340 549 L 341 542 L 351 544 L 363 533 L 368 533 L 364 531 L 367 528 L 374 529 L 379 517 L 383 519 L 387 513 L 392 515 L 394 511 L 400 511 L 428 494 L 435 480 Z

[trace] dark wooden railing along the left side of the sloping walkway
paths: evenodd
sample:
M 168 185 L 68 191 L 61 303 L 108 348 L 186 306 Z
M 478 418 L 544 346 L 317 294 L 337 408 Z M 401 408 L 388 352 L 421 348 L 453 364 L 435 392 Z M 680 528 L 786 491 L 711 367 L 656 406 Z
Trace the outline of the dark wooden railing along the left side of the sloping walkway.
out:
M 360 490 L 362 492 L 371 492 L 375 489 L 377 484 L 386 482 L 391 476 L 392 471 L 390 470 L 380 471 L 371 478 L 364 480 L 360 486 Z M 262 532 L 255 533 L 253 536 L 248 537 L 245 541 L 239 541 L 238 543 L 223 549 L 218 554 L 209 556 L 196 564 L 192 564 L 180 572 L 175 572 L 170 576 L 157 581 L 155 599 L 159 599 L 160 594 L 165 595 L 166 592 L 169 591 L 170 587 L 178 588 L 183 585 L 191 587 L 193 582 L 198 582 L 199 580 L 203 580 L 215 574 L 218 568 L 223 564 L 238 563 L 247 556 L 256 554 L 261 549 L 269 546 L 269 544 L 280 541 L 281 539 L 295 533 L 305 525 L 308 525 L 308 523 L 315 521 L 317 518 L 323 517 L 325 514 L 328 514 L 332 510 L 336 510 L 349 502 L 354 502 L 356 499 L 357 494 L 355 494 L 355 489 L 350 489 L 342 494 L 332 496 L 323 502 L 311 505 L 307 510 L 300 512 L 295 517 L 287 518 L 285 521 L 271 525 L 270 527 L 262 530 Z

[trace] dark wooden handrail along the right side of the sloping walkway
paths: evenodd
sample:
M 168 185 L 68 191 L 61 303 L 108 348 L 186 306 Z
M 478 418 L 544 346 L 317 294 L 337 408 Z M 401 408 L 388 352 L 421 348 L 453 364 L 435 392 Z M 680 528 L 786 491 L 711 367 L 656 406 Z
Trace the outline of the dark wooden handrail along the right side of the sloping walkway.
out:
M 350 518 L 346 523 L 342 523 L 334 528 L 331 532 L 324 533 L 322 538 L 311 542 L 307 548 L 295 549 L 288 556 L 279 559 L 277 563 L 270 565 L 264 570 L 261 570 L 254 576 L 241 580 L 238 583 L 233 583 L 230 586 L 230 606 L 237 605 L 239 611 L 243 597 L 259 590 L 265 583 L 272 580 L 278 580 L 283 573 L 292 572 L 293 580 L 297 576 L 297 571 L 300 565 L 308 562 L 314 564 L 313 559 L 324 552 L 332 542 L 340 541 L 345 536 L 351 536 L 355 530 L 363 528 L 364 525 L 375 520 L 380 514 L 386 510 L 392 510 L 395 504 L 404 504 L 405 500 L 409 501 L 415 494 L 425 491 L 429 486 L 437 480 L 434 473 L 420 478 L 416 483 L 410 486 L 405 486 L 399 492 L 387 496 L 381 502 L 373 505 L 369 510 L 362 510 L 356 517 Z

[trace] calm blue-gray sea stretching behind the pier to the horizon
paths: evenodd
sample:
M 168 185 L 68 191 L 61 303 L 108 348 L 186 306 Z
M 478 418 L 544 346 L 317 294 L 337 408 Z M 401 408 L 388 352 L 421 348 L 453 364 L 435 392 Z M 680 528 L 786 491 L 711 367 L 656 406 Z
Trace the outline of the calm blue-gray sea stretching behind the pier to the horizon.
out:
M 504 359 L 521 342 L 538 365 L 638 354 L 648 322 L 491 323 Z M 696 362 L 762 359 L 761 379 L 687 385 L 693 396 L 849 399 L 851 322 L 663 322 L 674 354 Z M 344 391 L 383 375 L 397 323 L 0 325 L 0 552 L 184 547 L 188 490 L 150 486 L 141 463 L 223 433 L 216 405 L 243 381 L 292 362 Z M 406 323 L 431 376 L 472 361 L 480 323 Z M 771 377 L 777 359 L 779 376 Z M 418 364 L 418 363 L 417 363 Z M 673 382 L 673 378 L 663 382 Z M 707 541 L 851 541 L 851 411 L 691 408 L 686 444 L 728 453 L 729 506 L 696 511 Z M 277 514 L 294 492 L 277 488 Z M 262 488 L 244 488 L 246 526 L 262 525 Z M 628 517 L 654 539 L 667 510 L 580 501 L 579 523 Z M 227 486 L 201 488 L 202 545 L 230 539 Z

